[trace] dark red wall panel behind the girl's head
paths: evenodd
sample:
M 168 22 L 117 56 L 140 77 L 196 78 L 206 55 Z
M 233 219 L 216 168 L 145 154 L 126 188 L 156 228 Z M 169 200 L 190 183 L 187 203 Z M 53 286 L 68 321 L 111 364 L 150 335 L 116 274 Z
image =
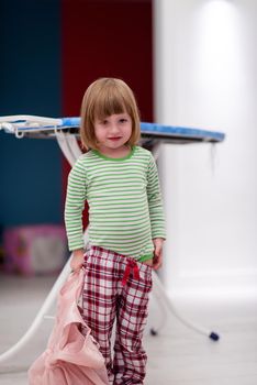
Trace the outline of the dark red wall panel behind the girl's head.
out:
M 152 1 L 63 0 L 63 116 L 79 116 L 86 88 L 119 77 L 136 95 L 142 120 L 153 121 Z M 69 166 L 64 161 L 64 191 Z

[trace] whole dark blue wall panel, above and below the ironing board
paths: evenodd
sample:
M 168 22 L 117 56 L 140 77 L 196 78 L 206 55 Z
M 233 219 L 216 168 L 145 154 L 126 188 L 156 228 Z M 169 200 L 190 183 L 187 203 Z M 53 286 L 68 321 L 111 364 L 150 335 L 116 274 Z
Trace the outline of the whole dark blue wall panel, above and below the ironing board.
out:
M 1 0 L 0 116 L 62 116 L 59 0 Z M 0 226 L 62 222 L 62 154 L 0 133 Z

